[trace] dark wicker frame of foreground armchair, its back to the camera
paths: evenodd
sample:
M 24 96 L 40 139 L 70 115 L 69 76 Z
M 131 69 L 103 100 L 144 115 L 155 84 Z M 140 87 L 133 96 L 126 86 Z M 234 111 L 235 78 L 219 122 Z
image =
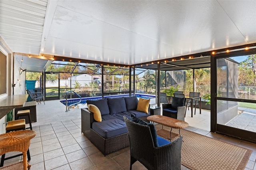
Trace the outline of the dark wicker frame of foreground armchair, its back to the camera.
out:
M 149 170 L 180 170 L 182 136 L 174 142 L 154 147 L 149 126 L 124 117 L 130 140 L 130 170 L 137 160 Z

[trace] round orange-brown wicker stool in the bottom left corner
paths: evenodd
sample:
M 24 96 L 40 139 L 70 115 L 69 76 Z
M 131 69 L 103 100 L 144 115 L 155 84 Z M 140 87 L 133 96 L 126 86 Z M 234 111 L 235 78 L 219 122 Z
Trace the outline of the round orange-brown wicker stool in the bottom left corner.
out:
M 27 162 L 27 151 L 30 145 L 30 139 L 36 136 L 34 130 L 18 130 L 14 132 L 8 132 L 0 134 L 0 155 L 4 155 L 7 152 L 22 152 L 23 155 L 23 168 L 27 170 L 30 168 L 30 164 Z M 1 167 L 4 170 L 19 170 L 21 168 L 21 163 L 17 162 L 10 164 L 8 166 Z

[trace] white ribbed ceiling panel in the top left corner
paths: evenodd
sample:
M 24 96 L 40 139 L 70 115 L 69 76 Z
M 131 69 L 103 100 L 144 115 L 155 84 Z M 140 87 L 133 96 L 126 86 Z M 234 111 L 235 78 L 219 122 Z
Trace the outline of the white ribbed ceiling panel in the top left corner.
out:
M 12 52 L 39 55 L 47 1 L 0 1 L 0 35 Z

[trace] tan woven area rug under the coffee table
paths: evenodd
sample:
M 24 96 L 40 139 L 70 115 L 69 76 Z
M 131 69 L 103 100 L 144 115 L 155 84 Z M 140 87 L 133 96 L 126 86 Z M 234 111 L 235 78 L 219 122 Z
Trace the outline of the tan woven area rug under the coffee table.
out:
M 156 130 L 162 125 L 156 125 Z M 164 129 L 169 130 L 169 127 Z M 172 129 L 178 134 L 178 129 Z M 181 129 L 182 165 L 192 170 L 243 170 L 252 150 Z M 178 137 L 176 137 L 178 138 Z M 176 138 L 172 138 L 174 141 Z

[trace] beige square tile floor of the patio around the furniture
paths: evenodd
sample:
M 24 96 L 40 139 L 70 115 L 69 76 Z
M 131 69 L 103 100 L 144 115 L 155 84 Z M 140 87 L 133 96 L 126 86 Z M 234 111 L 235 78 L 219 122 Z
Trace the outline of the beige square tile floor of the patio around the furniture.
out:
M 68 112 L 65 112 L 65 109 L 59 101 L 46 101 L 45 105 L 37 105 L 37 122 L 32 123 L 37 135 L 30 144 L 29 163 L 32 165 L 30 170 L 128 170 L 130 168 L 129 147 L 104 157 L 81 133 L 80 109 L 72 109 Z M 245 169 L 256 170 L 256 144 L 209 132 L 204 125 L 200 125 L 202 129 L 196 127 L 196 122 L 206 122 L 205 124 L 208 125 L 207 114 L 202 112 L 202 118 L 199 117 L 200 114 L 196 114 L 193 118 L 188 114 L 186 121 L 190 126 L 186 129 L 253 150 Z M 6 160 L 4 165 L 17 162 L 19 159 L 22 158 Z M 133 169 L 146 168 L 137 161 Z M 182 166 L 182 170 L 188 170 L 188 168 Z

